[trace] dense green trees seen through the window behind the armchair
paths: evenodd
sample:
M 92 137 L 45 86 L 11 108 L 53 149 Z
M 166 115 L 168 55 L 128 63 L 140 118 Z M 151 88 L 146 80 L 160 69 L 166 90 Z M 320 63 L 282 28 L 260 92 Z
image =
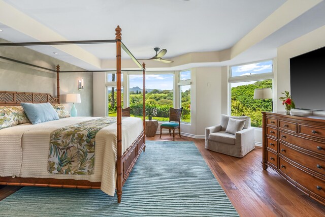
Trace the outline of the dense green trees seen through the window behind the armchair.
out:
M 251 118 L 252 127 L 262 127 L 262 111 L 272 111 L 272 99 L 254 100 L 255 88 L 272 88 L 272 80 L 256 81 L 253 84 L 233 87 L 232 108 L 233 116 L 247 115 Z

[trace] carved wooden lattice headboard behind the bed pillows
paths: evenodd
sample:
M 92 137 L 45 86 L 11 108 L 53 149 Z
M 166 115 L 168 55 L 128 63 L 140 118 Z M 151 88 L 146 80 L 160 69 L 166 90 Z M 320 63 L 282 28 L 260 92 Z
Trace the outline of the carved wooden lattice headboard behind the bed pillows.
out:
M 0 106 L 20 106 L 20 103 L 51 103 L 58 104 L 59 99 L 50 94 L 39 92 L 0 91 Z

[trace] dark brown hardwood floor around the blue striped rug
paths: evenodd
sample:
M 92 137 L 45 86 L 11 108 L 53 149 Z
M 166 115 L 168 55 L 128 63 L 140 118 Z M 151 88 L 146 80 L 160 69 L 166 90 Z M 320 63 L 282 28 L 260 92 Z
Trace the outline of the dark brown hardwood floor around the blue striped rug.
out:
M 171 141 L 167 134 L 147 140 Z M 175 141 L 193 141 L 240 216 L 325 216 L 325 206 L 310 199 L 272 169 L 262 169 L 262 149 L 235 158 L 205 149 L 204 139 L 175 135 Z M 0 200 L 20 187 L 1 186 Z

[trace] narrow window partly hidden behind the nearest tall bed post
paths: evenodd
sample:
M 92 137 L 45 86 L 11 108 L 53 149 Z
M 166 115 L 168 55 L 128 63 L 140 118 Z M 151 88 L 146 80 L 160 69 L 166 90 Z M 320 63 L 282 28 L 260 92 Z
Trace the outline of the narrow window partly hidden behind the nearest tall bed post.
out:
M 106 92 L 107 92 L 107 116 L 116 117 L 116 98 L 117 98 L 117 89 L 116 89 L 116 74 L 114 73 L 107 73 L 106 74 Z M 121 98 L 122 103 L 121 106 L 123 108 L 123 74 L 121 74 Z

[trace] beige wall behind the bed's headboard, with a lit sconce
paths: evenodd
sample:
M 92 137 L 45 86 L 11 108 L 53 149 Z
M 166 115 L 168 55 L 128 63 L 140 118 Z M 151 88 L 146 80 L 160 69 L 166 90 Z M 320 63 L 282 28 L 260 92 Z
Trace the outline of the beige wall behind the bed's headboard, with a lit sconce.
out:
M 0 43 L 5 43 L 0 39 Z M 0 55 L 25 61 L 30 64 L 61 70 L 82 70 L 64 61 L 41 54 L 25 47 L 0 48 Z M 93 81 L 92 72 L 60 73 L 61 102 L 65 103 L 66 94 L 80 93 L 81 103 L 76 104 L 78 116 L 92 116 Z M 78 79 L 85 77 L 85 90 L 78 89 Z M 22 92 L 46 92 L 56 97 L 56 73 L 29 67 L 9 60 L 0 59 L 0 90 Z

